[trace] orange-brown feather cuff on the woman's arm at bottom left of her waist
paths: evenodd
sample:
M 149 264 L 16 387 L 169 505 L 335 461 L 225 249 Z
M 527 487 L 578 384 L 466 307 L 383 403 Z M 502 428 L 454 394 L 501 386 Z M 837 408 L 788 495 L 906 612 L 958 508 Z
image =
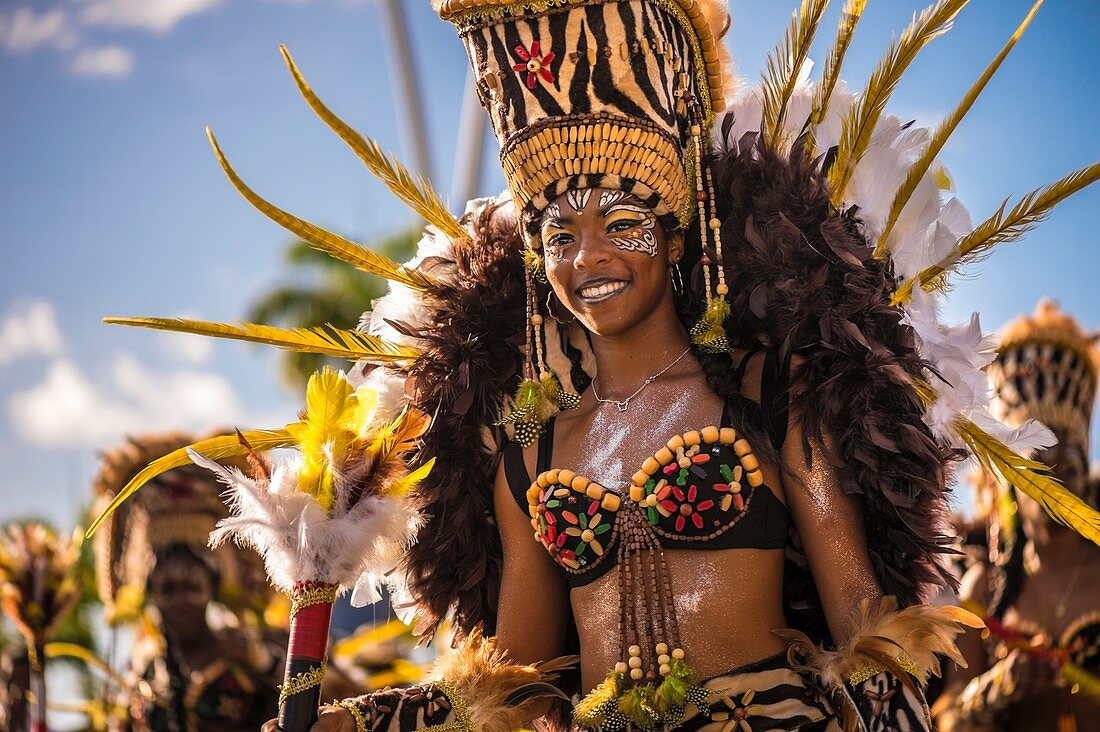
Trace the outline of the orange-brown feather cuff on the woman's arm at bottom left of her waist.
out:
M 534 666 L 516 665 L 496 647 L 494 638 L 483 637 L 475 630 L 460 647 L 440 656 L 427 678 L 447 681 L 458 691 L 474 730 L 512 732 L 531 721 L 538 701 L 530 698 L 515 704 L 509 698 L 528 685 L 548 684 L 558 671 L 574 666 L 578 660 L 576 656 L 562 656 Z M 460 703 L 451 701 L 457 707 Z

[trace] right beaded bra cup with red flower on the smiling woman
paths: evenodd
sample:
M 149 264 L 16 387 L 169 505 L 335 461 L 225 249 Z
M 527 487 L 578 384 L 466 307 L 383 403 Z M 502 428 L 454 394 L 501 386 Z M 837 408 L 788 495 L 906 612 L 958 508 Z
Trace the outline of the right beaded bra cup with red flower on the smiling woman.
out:
M 762 483 L 749 444 L 733 428 L 706 427 L 673 437 L 648 458 L 634 476 L 630 498 L 659 533 L 706 532 L 701 538 L 712 538 L 745 514 Z

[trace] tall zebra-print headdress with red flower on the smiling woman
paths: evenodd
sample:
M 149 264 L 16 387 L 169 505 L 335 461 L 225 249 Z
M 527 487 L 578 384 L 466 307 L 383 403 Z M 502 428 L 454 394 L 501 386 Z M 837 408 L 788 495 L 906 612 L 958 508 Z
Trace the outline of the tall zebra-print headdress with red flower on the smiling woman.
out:
M 722 0 L 439 0 L 465 42 L 528 237 L 570 188 L 625 190 L 667 229 L 697 209 L 723 109 Z

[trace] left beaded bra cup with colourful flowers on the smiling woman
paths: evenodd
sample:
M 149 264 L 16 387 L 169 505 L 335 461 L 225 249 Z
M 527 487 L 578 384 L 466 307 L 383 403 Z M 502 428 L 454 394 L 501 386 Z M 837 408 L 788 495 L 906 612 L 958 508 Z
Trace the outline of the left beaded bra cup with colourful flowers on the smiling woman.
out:
M 571 470 L 549 470 L 527 491 L 535 538 L 569 571 L 598 562 L 615 537 L 619 496 Z

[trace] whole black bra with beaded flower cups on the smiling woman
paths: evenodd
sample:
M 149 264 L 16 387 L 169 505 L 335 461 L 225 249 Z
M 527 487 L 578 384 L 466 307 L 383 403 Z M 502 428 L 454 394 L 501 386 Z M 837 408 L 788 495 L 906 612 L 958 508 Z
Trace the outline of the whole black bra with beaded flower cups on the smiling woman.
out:
M 783 431 L 771 430 L 779 447 L 785 434 L 787 393 L 785 389 L 765 392 L 766 397 L 769 394 L 781 402 Z M 728 424 L 728 415 L 724 422 Z M 773 422 L 773 427 L 780 424 Z M 763 484 L 751 446 L 733 427 L 673 436 L 642 462 L 625 491 L 572 470 L 551 469 L 553 427 L 551 419 L 539 440 L 534 482 L 517 443 L 505 446 L 504 468 L 516 502 L 531 516 L 536 539 L 565 571 L 569 587 L 587 584 L 615 566 L 617 524 L 625 510 L 642 512 L 666 548 L 787 546 L 790 513 Z

